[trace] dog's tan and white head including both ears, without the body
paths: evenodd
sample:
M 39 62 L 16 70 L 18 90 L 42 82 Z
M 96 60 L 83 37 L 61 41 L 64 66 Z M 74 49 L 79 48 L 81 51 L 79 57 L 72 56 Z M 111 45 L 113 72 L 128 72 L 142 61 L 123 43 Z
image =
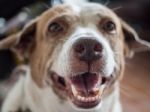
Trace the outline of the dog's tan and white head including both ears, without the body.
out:
M 39 87 L 52 87 L 58 97 L 87 109 L 98 106 L 119 80 L 133 43 L 145 44 L 111 10 L 85 4 L 49 9 L 0 48 L 27 58 Z

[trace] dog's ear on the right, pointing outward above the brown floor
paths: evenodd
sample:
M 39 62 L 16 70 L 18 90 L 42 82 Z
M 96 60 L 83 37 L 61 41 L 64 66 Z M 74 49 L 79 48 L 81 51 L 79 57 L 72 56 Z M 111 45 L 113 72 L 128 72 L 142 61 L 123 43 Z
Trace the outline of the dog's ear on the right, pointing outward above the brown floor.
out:
M 150 43 L 139 38 L 136 31 L 121 20 L 125 41 L 125 56 L 132 57 L 135 52 L 150 50 Z

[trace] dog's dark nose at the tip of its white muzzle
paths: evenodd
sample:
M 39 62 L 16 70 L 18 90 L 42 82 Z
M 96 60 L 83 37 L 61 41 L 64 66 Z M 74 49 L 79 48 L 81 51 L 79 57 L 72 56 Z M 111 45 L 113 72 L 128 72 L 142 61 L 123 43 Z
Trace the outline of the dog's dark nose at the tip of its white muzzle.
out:
M 102 57 L 103 47 L 95 39 L 83 38 L 74 44 L 74 52 L 78 59 L 91 63 Z

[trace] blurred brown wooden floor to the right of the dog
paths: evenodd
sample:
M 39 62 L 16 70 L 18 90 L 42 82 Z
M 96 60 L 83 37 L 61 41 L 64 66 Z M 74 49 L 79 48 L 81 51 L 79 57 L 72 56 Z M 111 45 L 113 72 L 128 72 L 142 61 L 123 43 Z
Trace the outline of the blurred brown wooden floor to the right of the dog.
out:
M 150 52 L 127 60 L 121 100 L 124 112 L 150 112 Z

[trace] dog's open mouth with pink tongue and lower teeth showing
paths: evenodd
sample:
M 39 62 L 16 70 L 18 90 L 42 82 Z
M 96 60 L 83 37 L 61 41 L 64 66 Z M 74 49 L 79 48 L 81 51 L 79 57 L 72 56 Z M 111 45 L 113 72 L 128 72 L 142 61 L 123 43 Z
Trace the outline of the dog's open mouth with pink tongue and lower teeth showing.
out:
M 89 109 L 100 104 L 102 95 L 111 77 L 98 73 L 86 72 L 64 78 L 56 73 L 51 74 L 55 87 L 63 90 L 70 101 L 78 108 Z

